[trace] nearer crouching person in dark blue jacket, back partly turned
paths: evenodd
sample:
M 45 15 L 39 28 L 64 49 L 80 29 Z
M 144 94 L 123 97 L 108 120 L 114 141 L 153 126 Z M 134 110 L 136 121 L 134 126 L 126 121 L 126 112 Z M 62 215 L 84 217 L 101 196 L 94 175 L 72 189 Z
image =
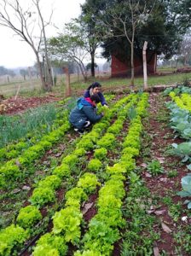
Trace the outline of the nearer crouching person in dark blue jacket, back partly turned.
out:
M 103 114 L 96 114 L 96 104 L 101 102 L 98 95 L 92 95 L 90 98 L 79 98 L 76 108 L 72 109 L 69 121 L 74 130 L 80 133 L 91 124 L 98 122 Z

